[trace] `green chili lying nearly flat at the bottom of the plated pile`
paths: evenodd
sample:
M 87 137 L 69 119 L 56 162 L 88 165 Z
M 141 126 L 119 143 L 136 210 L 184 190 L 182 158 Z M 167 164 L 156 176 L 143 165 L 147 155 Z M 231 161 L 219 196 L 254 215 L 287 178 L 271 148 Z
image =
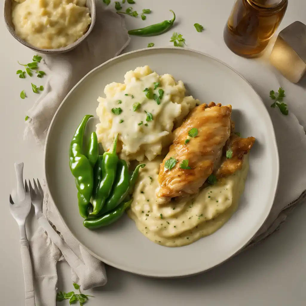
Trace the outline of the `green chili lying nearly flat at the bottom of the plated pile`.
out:
M 107 226 L 117 221 L 124 213 L 124 211 L 131 206 L 132 200 L 121 203 L 114 211 L 103 215 L 101 217 L 88 218 L 83 221 L 83 225 L 88 229 L 94 230 L 102 226 Z

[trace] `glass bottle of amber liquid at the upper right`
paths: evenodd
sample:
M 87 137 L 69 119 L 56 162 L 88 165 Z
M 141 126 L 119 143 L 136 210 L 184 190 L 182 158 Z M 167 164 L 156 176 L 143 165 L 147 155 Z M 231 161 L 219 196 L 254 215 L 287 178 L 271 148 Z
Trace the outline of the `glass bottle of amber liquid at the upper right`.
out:
M 234 53 L 255 57 L 269 43 L 281 23 L 288 0 L 236 0 L 224 28 L 224 41 Z

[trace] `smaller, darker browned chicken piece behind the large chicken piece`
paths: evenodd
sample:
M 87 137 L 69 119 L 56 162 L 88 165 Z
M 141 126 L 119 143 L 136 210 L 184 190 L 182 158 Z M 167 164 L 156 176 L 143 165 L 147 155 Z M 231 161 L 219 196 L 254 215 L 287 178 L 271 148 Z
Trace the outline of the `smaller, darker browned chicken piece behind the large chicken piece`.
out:
M 216 177 L 225 177 L 241 169 L 243 157 L 252 148 L 254 142 L 254 137 L 240 138 L 232 134 L 224 147 L 224 158 L 216 172 Z M 228 157 L 230 158 L 226 157 L 226 151 L 229 152 Z

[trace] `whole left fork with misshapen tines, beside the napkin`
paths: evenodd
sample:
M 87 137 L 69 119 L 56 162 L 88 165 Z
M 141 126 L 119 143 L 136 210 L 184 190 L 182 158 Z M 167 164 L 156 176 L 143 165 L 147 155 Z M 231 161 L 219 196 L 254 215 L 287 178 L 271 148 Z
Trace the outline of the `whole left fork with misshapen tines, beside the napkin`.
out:
M 33 270 L 29 250 L 29 242 L 25 231 L 25 220 L 31 209 L 31 194 L 27 181 L 23 185 L 23 162 L 15 164 L 17 177 L 17 201 L 13 202 L 9 195 L 9 210 L 13 218 L 17 221 L 20 231 L 21 259 L 24 274 L 25 304 L 26 306 L 35 306 Z

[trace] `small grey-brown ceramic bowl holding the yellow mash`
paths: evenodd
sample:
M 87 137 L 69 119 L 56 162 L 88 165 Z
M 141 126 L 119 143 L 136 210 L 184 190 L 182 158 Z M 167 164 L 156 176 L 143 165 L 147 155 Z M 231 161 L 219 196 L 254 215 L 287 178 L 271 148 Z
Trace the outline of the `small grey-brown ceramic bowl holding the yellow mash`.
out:
M 14 30 L 14 24 L 12 21 L 12 1 L 13 0 L 5 0 L 4 1 L 4 9 L 3 9 L 3 15 L 4 15 L 4 22 L 6 24 L 6 28 L 9 30 L 9 32 L 12 34 L 12 36 L 17 39 L 20 43 L 22 43 L 24 46 L 45 54 L 60 54 L 64 52 L 68 52 L 73 50 L 75 47 L 77 47 L 86 37 L 89 35 L 89 33 L 92 31 L 94 24 L 95 24 L 95 17 L 96 17 L 96 7 L 95 7 L 95 0 L 87 0 L 86 6 L 89 9 L 90 17 L 91 17 L 91 24 L 89 26 L 89 29 L 87 32 L 80 37 L 78 40 L 76 40 L 74 43 L 68 45 L 67 47 L 57 48 L 57 49 L 41 49 L 38 47 L 35 47 L 31 45 L 30 43 L 26 42 L 25 40 L 21 39 Z

